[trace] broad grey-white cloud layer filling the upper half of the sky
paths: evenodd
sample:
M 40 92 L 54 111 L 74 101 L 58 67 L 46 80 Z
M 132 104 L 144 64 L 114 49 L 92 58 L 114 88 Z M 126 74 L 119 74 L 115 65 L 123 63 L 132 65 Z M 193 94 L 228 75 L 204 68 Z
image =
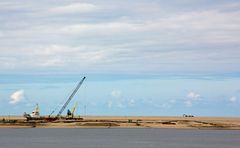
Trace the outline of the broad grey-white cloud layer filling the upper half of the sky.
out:
M 237 73 L 239 9 L 227 0 L 1 2 L 0 69 Z

